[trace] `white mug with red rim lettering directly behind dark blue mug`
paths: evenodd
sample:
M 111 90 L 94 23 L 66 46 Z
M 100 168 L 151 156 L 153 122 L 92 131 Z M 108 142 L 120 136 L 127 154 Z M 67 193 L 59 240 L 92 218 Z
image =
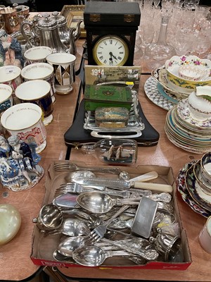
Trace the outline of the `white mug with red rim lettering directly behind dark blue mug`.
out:
M 25 81 L 46 80 L 49 82 L 51 85 L 51 99 L 52 102 L 55 102 L 54 94 L 56 90 L 54 86 L 53 66 L 49 65 L 49 63 L 32 63 L 21 70 L 21 76 Z

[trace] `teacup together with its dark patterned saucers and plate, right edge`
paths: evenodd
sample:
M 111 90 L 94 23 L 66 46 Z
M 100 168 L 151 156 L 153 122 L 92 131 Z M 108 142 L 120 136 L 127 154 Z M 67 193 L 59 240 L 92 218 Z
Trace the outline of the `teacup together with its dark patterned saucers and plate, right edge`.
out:
M 206 218 L 211 216 L 211 152 L 181 168 L 177 190 L 194 212 Z

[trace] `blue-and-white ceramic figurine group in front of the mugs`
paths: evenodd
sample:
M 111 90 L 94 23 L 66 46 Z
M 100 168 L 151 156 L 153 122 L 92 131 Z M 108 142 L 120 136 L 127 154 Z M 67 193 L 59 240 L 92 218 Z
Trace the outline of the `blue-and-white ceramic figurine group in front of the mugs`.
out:
M 39 182 L 44 170 L 38 165 L 41 157 L 35 147 L 17 136 L 8 137 L 8 140 L 0 136 L 0 180 L 4 187 L 19 191 Z

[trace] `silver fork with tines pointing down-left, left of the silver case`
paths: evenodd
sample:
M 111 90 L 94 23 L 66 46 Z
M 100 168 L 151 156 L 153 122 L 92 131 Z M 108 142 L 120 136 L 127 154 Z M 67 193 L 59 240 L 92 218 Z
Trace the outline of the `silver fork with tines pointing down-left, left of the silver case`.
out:
M 106 234 L 107 226 L 128 208 L 128 205 L 122 206 L 121 209 L 119 209 L 113 216 L 111 216 L 110 219 L 108 219 L 108 221 L 106 221 L 106 223 L 103 223 L 94 228 L 89 235 L 91 242 L 98 242 L 98 240 L 101 240 L 101 238 L 103 238 Z

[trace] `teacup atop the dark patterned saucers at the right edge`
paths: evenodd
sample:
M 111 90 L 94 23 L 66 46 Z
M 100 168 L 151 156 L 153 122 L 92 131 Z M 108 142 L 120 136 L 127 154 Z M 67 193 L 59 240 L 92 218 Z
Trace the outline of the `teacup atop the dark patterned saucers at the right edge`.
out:
M 204 154 L 200 159 L 200 173 L 203 183 L 211 188 L 211 152 Z

